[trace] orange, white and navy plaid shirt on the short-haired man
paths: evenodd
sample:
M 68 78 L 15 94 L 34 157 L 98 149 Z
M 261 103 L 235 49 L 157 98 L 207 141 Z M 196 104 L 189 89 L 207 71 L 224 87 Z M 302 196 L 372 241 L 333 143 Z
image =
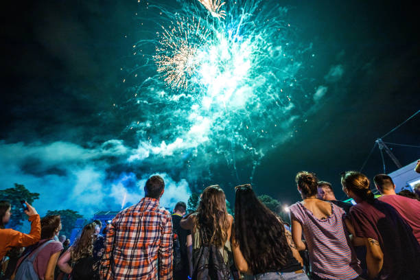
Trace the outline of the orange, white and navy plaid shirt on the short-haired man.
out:
M 142 198 L 115 216 L 106 235 L 100 277 L 172 279 L 172 219 L 159 208 L 159 200 Z

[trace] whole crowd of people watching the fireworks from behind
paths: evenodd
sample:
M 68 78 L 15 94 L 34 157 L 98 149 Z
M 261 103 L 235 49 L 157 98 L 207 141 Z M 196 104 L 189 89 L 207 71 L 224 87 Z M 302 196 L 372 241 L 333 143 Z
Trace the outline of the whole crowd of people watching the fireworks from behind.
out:
M 299 172 L 302 201 L 290 206 L 288 224 L 249 184 L 235 187 L 234 216 L 218 185 L 202 191 L 196 211 L 178 202 L 171 214 L 159 206 L 163 178 L 152 176 L 145 197 L 119 212 L 105 235 L 95 220 L 71 246 L 58 237 L 59 215 L 40 219 L 27 203 L 30 233 L 5 229 L 11 205 L 1 201 L 3 279 L 419 280 L 420 201 L 396 194 L 386 174 L 373 182 L 379 198 L 364 174 L 342 173 L 352 205 L 316 174 Z

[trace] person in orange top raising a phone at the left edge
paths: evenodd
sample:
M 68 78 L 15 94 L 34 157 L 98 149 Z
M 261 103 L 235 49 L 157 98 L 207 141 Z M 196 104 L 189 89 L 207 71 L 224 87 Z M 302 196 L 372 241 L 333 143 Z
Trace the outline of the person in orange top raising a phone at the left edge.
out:
M 31 232 L 29 234 L 15 231 L 14 229 L 5 229 L 5 225 L 12 216 L 12 205 L 7 200 L 0 201 L 0 262 L 13 247 L 26 247 L 35 244 L 40 239 L 40 218 L 35 208 L 25 202 L 28 215 L 31 222 Z

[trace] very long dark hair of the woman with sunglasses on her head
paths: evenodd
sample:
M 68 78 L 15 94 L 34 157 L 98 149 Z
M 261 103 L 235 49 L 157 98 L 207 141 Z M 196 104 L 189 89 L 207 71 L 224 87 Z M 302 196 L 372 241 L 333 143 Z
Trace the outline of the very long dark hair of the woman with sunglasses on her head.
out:
M 255 195 L 251 185 L 235 187 L 233 234 L 253 272 L 284 266 L 290 250 L 279 218 Z

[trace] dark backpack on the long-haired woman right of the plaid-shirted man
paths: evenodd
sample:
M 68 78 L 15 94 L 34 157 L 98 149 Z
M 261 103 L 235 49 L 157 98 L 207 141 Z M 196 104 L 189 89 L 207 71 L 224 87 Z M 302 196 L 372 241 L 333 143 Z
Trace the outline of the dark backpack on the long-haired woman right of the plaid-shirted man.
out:
M 194 251 L 193 280 L 229 280 L 229 266 L 224 262 L 219 248 L 202 245 Z

